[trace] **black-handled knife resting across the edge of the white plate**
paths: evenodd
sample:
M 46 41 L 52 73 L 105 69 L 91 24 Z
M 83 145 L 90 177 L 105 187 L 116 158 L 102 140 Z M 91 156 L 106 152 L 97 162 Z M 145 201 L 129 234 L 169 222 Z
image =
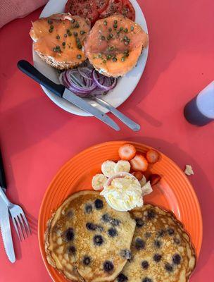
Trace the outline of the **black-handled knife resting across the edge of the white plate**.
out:
M 87 111 L 87 113 L 92 114 L 92 116 L 95 116 L 100 121 L 103 121 L 103 123 L 106 123 L 111 128 L 117 131 L 120 130 L 117 123 L 109 118 L 109 116 L 103 114 L 103 112 L 101 112 L 99 109 L 96 109 L 94 106 L 90 105 L 89 103 L 84 101 L 84 99 L 75 95 L 73 92 L 70 92 L 70 90 L 65 89 L 63 85 L 56 84 L 53 81 L 49 80 L 49 78 L 46 78 L 46 76 L 42 75 L 42 73 L 39 73 L 39 71 L 34 68 L 34 66 L 32 66 L 28 61 L 18 61 L 17 66 L 20 71 L 49 89 L 51 92 L 53 92 L 53 94 L 56 94 L 58 97 L 68 100 L 68 102 L 75 104 L 75 106 L 82 109 L 83 111 Z

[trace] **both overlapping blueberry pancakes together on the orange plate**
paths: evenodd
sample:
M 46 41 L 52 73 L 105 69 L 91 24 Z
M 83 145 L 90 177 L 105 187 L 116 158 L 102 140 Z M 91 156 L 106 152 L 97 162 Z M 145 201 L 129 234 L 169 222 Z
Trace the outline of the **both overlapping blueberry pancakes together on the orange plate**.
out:
M 70 196 L 48 222 L 46 257 L 70 281 L 187 282 L 194 247 L 172 212 L 118 212 L 99 192 Z

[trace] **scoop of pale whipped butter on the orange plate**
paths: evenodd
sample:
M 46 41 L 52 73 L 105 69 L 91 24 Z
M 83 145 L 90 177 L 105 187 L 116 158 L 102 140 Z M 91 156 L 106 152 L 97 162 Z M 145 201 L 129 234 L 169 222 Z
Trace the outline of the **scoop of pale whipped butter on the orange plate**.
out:
M 101 195 L 113 209 L 120 212 L 130 211 L 144 204 L 141 185 L 132 176 L 113 179 L 111 185 L 104 186 Z

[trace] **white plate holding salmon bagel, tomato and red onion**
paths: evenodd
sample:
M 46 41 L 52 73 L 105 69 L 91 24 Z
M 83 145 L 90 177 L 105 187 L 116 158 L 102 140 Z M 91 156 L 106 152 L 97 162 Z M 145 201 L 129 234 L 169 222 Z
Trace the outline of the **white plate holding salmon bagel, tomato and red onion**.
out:
M 136 0 L 130 0 L 132 2 L 132 5 L 134 7 L 136 18 L 135 22 L 141 25 L 141 27 L 144 29 L 146 33 L 148 33 L 146 20 L 144 18 L 144 14 L 141 11 L 141 8 L 139 7 L 139 4 Z M 49 0 L 49 2 L 44 7 L 40 17 L 48 17 L 51 16 L 53 13 L 63 13 L 65 3 L 67 0 Z M 146 60 L 148 57 L 148 49 L 149 47 L 146 47 L 144 49 L 143 53 L 139 57 L 139 61 L 137 62 L 137 66 L 132 69 L 129 73 L 127 73 L 122 78 L 118 79 L 117 86 L 108 92 L 103 99 L 117 108 L 120 106 L 125 100 L 130 97 L 130 94 L 134 91 L 134 88 L 137 86 L 137 83 L 139 82 L 141 75 L 144 71 L 144 68 L 146 66 Z M 43 73 L 47 78 L 51 79 L 53 82 L 59 83 L 58 80 L 58 73 L 57 71 L 52 68 L 51 66 L 47 65 L 42 61 L 37 54 L 33 51 L 33 61 L 34 66 Z M 72 114 L 76 114 L 78 116 L 91 116 L 88 113 L 85 113 L 81 109 L 78 109 L 77 106 L 73 106 L 73 104 L 70 104 L 65 99 L 62 99 L 60 97 L 57 97 L 55 94 L 53 94 L 51 91 L 47 90 L 45 87 L 42 86 L 42 89 L 46 93 L 46 95 L 53 101 L 56 105 L 60 106 L 65 111 L 68 111 Z M 96 106 L 101 111 L 107 113 L 108 110 L 103 108 L 102 106 L 99 106 L 96 104 L 96 102 L 89 99 L 89 103 L 93 106 Z

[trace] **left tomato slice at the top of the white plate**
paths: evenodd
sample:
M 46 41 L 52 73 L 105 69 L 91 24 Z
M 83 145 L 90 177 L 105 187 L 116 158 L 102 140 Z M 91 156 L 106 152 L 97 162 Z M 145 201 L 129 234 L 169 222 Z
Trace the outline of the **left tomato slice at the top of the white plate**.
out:
M 92 24 L 99 17 L 94 0 L 68 0 L 65 5 L 65 13 L 70 13 L 72 16 L 89 18 Z

